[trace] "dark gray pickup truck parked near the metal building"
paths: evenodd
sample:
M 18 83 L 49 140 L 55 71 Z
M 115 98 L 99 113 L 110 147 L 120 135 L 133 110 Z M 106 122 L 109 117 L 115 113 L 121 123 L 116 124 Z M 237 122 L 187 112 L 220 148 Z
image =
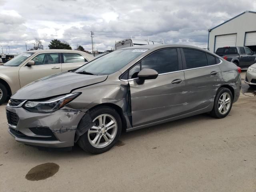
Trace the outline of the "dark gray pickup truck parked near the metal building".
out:
M 220 47 L 215 54 L 241 68 L 249 67 L 256 63 L 256 53 L 248 47 Z

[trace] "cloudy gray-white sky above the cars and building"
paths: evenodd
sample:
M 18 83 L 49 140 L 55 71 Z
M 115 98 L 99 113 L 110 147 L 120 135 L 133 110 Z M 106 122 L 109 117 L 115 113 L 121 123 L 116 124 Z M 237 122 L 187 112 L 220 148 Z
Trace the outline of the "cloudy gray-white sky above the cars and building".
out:
M 246 10 L 252 0 L 0 0 L 0 52 L 22 52 L 35 38 L 73 49 L 110 50 L 124 38 L 207 47 L 208 29 Z M 7 50 L 9 52 L 9 50 Z

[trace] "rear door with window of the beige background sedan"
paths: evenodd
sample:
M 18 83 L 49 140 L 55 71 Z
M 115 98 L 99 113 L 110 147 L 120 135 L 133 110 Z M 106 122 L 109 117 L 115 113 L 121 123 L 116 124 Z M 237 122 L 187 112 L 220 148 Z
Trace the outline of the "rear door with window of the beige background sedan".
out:
M 88 63 L 88 60 L 82 56 L 80 53 L 68 53 L 64 52 L 62 54 L 62 71 L 68 71 L 72 69 L 76 69 L 86 63 Z

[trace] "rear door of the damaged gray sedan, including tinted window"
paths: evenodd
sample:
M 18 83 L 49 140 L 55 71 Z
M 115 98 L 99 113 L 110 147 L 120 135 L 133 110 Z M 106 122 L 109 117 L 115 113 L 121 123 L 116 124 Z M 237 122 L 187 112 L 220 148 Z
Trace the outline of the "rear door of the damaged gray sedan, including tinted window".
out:
M 184 62 L 183 62 L 184 61 Z M 186 112 L 207 108 L 212 102 L 220 83 L 220 59 L 204 51 L 182 48 L 182 62 L 186 91 Z

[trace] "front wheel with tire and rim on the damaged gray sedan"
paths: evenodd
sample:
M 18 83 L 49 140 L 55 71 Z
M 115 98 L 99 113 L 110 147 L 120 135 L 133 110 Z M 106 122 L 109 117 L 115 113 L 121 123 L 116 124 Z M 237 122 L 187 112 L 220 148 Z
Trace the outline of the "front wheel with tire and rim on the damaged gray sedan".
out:
M 108 106 L 90 111 L 94 126 L 80 136 L 78 145 L 92 154 L 104 153 L 118 141 L 122 132 L 122 120 L 116 110 Z

